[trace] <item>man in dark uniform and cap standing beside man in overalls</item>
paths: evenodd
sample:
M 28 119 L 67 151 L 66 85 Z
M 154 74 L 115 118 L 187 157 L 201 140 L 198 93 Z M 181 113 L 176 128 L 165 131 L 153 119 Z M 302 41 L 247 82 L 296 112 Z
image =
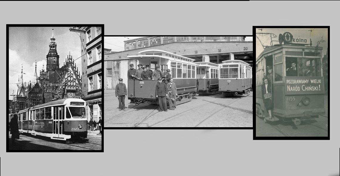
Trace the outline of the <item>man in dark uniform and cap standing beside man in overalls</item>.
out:
M 155 95 L 156 98 L 158 98 L 158 104 L 159 104 L 159 112 L 160 111 L 168 111 L 167 102 L 166 102 L 166 96 L 168 96 L 168 87 L 167 84 L 162 82 L 162 78 L 158 78 L 158 82 L 156 84 L 156 91 Z

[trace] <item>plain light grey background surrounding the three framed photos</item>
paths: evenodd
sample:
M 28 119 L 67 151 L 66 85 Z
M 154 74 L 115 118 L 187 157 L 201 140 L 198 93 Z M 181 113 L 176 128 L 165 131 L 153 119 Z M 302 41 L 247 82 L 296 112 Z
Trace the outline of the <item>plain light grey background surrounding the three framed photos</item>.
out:
M 337 75 L 339 5 L 334 1 L 0 2 L 0 50 L 5 61 L 6 24 L 104 23 L 105 35 L 252 35 L 253 25 L 330 25 L 333 69 L 329 70 Z M 1 75 L 6 75 L 5 64 L 0 67 Z M 253 130 L 105 130 L 104 153 L 6 153 L 5 91 L 2 86 L 1 175 L 339 175 L 335 106 L 330 106 L 330 140 L 254 141 Z M 335 90 L 331 97 L 335 105 L 339 98 Z

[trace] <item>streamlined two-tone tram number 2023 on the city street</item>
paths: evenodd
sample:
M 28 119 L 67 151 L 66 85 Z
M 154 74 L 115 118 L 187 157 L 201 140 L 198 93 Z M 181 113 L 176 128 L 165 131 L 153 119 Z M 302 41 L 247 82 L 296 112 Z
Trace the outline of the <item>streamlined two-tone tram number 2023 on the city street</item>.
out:
M 19 132 L 57 140 L 87 138 L 85 107 L 82 99 L 66 98 L 21 110 Z

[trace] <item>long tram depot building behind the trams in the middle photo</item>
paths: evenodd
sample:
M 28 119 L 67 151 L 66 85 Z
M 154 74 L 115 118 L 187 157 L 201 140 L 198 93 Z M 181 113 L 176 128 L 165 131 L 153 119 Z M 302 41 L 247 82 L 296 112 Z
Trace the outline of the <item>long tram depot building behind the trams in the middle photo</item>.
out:
M 136 59 L 128 56 L 138 55 L 145 50 L 163 50 L 177 55 L 194 59 L 194 62 L 222 63 L 230 60 L 233 54 L 237 60 L 242 60 L 253 65 L 253 42 L 244 41 L 245 37 L 141 37 L 124 41 L 124 51 L 110 52 L 104 49 L 104 89 L 114 90 L 122 78 L 123 83 L 128 85 L 128 70 L 130 64 L 138 69 Z M 208 58 L 208 59 L 207 59 Z M 150 64 L 150 69 L 155 70 L 157 65 Z M 162 69 L 163 72 L 165 70 Z M 170 74 L 172 74 L 170 72 Z

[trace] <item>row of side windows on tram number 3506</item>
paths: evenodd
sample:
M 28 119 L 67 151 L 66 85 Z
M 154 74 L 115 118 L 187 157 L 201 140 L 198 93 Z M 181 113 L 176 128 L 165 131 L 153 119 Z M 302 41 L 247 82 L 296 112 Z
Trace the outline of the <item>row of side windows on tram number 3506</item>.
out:
M 196 76 L 194 65 L 171 62 L 170 67 L 172 78 L 195 78 Z

